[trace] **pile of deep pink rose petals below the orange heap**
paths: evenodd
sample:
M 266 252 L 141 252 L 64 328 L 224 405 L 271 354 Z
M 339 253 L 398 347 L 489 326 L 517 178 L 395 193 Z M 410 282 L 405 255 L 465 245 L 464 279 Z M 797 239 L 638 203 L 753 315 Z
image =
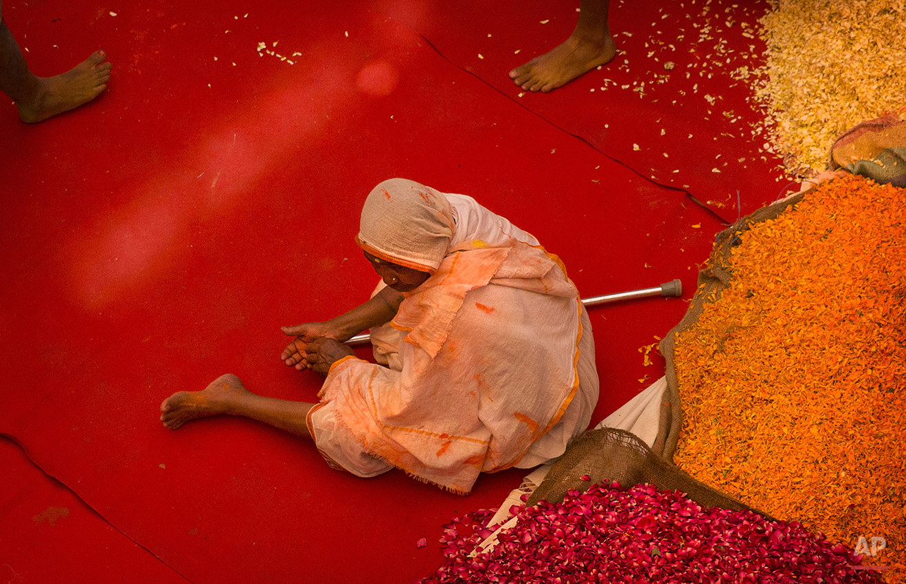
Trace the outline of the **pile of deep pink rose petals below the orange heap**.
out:
M 583 477 L 584 478 L 584 477 Z M 796 522 L 755 512 L 703 510 L 683 493 L 650 484 L 597 484 L 563 503 L 512 509 L 516 526 L 473 554 L 492 511 L 444 526 L 447 562 L 420 584 L 493 582 L 874 582 L 861 560 Z

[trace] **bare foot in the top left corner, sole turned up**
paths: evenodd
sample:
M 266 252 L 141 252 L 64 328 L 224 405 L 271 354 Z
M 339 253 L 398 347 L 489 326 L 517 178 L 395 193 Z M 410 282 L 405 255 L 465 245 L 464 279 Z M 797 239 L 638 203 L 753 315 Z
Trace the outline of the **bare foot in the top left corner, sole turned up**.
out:
M 34 99 L 15 104 L 19 117 L 34 124 L 92 101 L 107 89 L 111 79 L 111 63 L 104 62 L 105 58 L 103 51 L 97 51 L 65 73 L 35 78 L 38 88 Z

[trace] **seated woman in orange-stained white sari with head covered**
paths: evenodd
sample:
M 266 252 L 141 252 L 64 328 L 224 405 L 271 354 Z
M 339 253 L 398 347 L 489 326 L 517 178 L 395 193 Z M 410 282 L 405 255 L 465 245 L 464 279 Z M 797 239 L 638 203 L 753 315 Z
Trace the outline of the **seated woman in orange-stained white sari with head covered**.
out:
M 356 242 L 381 276 L 371 299 L 284 328 L 286 365 L 327 376 L 320 403 L 257 396 L 225 375 L 167 398 L 164 426 L 248 416 L 311 436 L 336 468 L 397 467 L 456 493 L 482 471 L 562 455 L 588 426 L 598 376 L 560 260 L 475 199 L 400 178 L 371 191 Z M 363 330 L 378 364 L 342 342 Z

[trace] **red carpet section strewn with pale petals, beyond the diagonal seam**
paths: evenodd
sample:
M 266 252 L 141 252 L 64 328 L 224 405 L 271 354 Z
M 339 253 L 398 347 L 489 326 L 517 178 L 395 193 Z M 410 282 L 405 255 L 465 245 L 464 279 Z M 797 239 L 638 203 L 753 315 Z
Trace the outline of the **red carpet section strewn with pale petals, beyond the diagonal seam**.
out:
M 734 74 L 764 64 L 765 0 L 612 0 L 612 62 L 548 94 L 517 88 L 507 73 L 564 41 L 578 5 L 504 0 L 488 10 L 471 0 L 440 3 L 439 18 L 395 17 L 516 103 L 725 221 L 777 198 L 789 183 L 783 161 L 762 151 L 765 137 L 752 132 L 764 112 Z

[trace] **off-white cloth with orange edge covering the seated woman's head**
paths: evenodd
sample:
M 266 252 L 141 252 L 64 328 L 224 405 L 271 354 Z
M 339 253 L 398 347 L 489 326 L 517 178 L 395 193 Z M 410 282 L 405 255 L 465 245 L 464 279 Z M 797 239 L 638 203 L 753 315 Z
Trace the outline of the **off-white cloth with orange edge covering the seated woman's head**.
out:
M 390 178 L 365 199 L 355 239 L 382 260 L 435 273 L 452 237 L 453 215 L 443 193 L 406 178 Z

